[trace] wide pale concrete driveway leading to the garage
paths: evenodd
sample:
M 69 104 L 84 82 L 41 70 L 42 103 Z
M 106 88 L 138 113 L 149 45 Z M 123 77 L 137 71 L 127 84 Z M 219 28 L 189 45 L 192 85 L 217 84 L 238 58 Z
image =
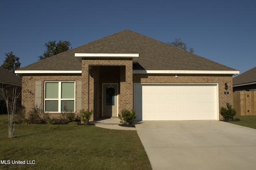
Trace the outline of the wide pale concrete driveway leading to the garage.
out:
M 223 121 L 141 121 L 153 170 L 252 170 L 256 129 Z

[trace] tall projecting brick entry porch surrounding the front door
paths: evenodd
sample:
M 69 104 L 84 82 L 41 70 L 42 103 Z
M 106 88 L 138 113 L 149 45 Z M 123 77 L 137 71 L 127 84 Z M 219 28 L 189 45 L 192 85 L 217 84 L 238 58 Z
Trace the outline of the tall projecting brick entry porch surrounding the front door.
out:
M 94 110 L 92 119 L 102 117 L 102 83 L 118 83 L 118 113 L 132 109 L 132 78 L 132 59 L 83 58 L 82 108 Z

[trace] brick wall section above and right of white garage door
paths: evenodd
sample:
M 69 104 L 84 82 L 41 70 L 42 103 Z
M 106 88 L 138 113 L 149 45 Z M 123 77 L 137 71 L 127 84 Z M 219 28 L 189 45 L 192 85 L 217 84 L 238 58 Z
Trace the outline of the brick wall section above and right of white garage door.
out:
M 208 74 L 134 74 L 134 83 L 218 83 L 218 97 L 219 97 L 219 119 L 220 108 L 226 107 L 226 103 L 233 103 L 232 92 L 232 76 L 230 75 L 208 75 Z M 228 84 L 228 90 L 225 90 L 225 83 Z M 224 92 L 229 94 L 224 94 Z

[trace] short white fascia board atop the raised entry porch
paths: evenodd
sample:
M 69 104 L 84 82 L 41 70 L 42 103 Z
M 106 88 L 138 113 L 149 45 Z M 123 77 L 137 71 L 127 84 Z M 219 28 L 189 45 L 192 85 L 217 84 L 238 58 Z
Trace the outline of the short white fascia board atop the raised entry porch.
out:
M 133 63 L 138 62 L 138 53 L 75 53 L 75 57 L 106 57 L 106 58 L 132 58 Z

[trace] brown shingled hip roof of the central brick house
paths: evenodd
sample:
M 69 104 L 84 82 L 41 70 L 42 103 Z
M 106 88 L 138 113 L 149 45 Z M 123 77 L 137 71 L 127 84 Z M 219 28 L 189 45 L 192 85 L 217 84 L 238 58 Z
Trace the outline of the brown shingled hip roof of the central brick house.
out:
M 138 53 L 138 63 L 134 64 L 133 70 L 237 71 L 128 29 L 18 70 L 82 70 L 81 57 L 74 57 L 74 53 Z

